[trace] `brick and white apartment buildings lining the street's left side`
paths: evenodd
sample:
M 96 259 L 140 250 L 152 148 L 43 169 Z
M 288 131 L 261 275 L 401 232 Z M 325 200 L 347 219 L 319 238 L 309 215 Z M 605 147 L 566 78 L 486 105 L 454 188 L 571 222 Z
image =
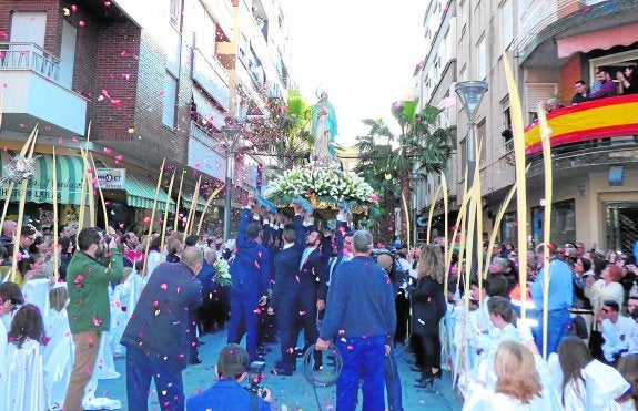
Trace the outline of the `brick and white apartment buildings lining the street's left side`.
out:
M 229 158 L 239 207 L 247 191 L 259 188 L 263 160 L 229 150 L 222 130 L 234 126 L 241 135 L 251 116 L 269 115 L 266 99 L 285 99 L 286 23 L 272 0 L 0 2 L 0 161 L 4 165 L 38 124 L 41 157 L 28 193 L 31 220 L 52 201 L 45 172 L 52 146 L 59 179 L 65 178 L 58 184 L 59 199 L 70 218 L 80 204 L 80 147 L 88 147 L 102 174 L 125 168 L 118 174 L 123 183 L 104 191 L 120 225 L 139 225 L 150 214 L 164 158 L 159 208 L 175 173 L 172 197 L 184 174 L 185 212 L 201 177 L 202 212 L 207 194 L 224 182 Z M 17 199 L 14 194 L 11 202 Z M 219 228 L 223 201 L 211 208 Z

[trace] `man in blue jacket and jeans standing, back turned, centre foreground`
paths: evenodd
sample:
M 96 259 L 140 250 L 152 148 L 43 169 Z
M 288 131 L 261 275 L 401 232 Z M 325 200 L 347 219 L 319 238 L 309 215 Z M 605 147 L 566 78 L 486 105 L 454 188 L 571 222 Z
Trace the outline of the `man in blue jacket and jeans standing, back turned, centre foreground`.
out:
M 396 327 L 394 292 L 385 270 L 369 257 L 372 235 L 356 232 L 354 258 L 337 266 L 327 297 L 326 315 L 316 340 L 327 350 L 336 339 L 343 369 L 336 386 L 336 409 L 354 410 L 363 379 L 363 409 L 385 410 L 384 359 Z

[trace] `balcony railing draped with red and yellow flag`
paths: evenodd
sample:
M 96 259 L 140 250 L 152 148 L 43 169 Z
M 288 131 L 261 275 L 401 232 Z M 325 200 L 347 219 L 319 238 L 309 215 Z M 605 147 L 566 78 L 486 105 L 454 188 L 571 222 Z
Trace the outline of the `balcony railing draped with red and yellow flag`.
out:
M 551 147 L 627 135 L 638 135 L 638 94 L 589 101 L 547 115 Z M 525 151 L 534 155 L 543 150 L 540 130 L 534 123 L 525 130 Z

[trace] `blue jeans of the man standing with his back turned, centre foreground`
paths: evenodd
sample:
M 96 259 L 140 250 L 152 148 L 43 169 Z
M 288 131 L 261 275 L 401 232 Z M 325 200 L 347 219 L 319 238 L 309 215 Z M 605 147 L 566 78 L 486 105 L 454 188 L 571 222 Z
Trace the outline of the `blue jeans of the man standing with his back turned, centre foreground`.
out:
M 354 411 L 358 380 L 363 380 L 363 410 L 385 410 L 385 337 L 337 341 L 343 369 L 336 382 L 336 411 Z

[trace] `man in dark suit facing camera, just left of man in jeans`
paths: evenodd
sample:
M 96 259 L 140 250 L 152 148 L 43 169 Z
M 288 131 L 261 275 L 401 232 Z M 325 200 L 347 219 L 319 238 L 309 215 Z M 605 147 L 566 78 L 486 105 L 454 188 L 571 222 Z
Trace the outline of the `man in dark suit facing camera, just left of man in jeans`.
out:
M 322 234 L 311 225 L 306 237 L 306 247 L 298 265 L 300 292 L 295 306 L 301 315 L 304 330 L 304 351 L 316 341 L 318 337 L 317 312 L 325 309 L 327 258 L 322 254 L 320 247 L 322 239 Z M 321 370 L 323 368 L 322 353 L 315 351 L 314 359 L 314 370 Z

